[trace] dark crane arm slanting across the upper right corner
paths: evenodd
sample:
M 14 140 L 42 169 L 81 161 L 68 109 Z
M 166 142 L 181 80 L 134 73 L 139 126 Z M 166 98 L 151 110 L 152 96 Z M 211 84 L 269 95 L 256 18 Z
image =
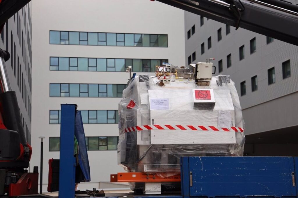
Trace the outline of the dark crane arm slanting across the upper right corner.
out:
M 298 6 L 281 0 L 157 0 L 162 3 L 298 45 Z

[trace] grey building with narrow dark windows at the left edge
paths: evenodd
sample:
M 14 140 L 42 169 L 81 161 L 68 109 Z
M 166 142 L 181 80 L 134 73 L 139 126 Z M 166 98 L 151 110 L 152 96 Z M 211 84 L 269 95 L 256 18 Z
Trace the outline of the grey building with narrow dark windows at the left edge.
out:
M 0 34 L 0 48 L 10 53 L 10 59 L 5 62 L 5 66 L 11 89 L 15 91 L 18 99 L 25 137 L 29 144 L 32 118 L 31 7 L 31 3 L 25 5 L 8 19 Z

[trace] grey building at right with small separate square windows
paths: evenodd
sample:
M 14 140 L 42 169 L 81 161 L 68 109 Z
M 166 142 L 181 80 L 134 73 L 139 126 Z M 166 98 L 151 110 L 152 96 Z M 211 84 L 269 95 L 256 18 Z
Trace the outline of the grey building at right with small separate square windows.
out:
M 240 97 L 246 155 L 297 156 L 298 46 L 185 12 L 185 62 L 214 57 Z

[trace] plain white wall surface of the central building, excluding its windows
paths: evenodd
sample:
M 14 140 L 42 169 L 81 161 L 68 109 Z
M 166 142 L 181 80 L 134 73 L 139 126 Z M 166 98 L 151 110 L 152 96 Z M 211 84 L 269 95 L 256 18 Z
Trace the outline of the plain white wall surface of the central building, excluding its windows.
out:
M 31 166 L 39 166 L 40 140 L 44 140 L 44 180 L 47 184 L 48 159 L 59 158 L 49 152 L 49 137 L 60 136 L 60 124 L 49 124 L 49 110 L 60 104 L 78 104 L 79 110 L 117 110 L 120 98 L 49 97 L 49 83 L 126 84 L 125 72 L 50 71 L 49 57 L 168 59 L 175 65 L 185 60 L 184 11 L 152 1 L 32 1 L 32 147 Z M 115 32 L 167 34 L 168 47 L 119 47 L 88 45 L 50 45 L 49 31 Z M 138 73 L 141 74 L 141 73 Z M 118 136 L 117 124 L 84 124 L 86 136 Z M 91 183 L 98 187 L 110 174 L 124 171 L 117 165 L 117 151 L 88 151 Z M 44 186 L 44 191 L 46 187 Z

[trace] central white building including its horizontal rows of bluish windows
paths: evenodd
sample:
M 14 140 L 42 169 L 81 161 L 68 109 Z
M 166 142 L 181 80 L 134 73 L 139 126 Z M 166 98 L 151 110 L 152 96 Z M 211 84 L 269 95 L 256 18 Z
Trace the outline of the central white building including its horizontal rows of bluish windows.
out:
M 41 135 L 44 175 L 48 159 L 59 159 L 60 104 L 77 104 L 91 169 L 91 182 L 79 188 L 111 188 L 110 174 L 123 171 L 117 164 L 117 123 L 126 67 L 153 75 L 163 61 L 183 65 L 184 11 L 139 0 L 39 0 L 32 7 L 38 83 L 32 87 L 31 166 L 39 165 Z M 47 183 L 44 179 L 44 191 Z

